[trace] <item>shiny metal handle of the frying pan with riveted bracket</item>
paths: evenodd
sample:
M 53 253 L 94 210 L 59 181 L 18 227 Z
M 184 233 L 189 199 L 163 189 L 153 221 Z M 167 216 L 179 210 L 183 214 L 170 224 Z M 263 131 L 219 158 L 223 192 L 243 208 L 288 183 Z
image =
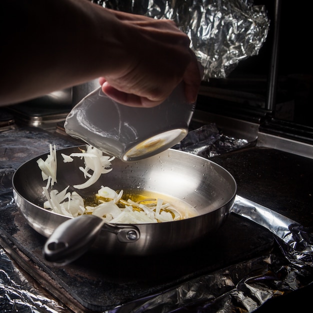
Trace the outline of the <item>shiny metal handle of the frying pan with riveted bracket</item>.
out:
M 90 248 L 101 229 L 115 233 L 120 242 L 135 242 L 140 237 L 134 225 L 108 224 L 103 218 L 84 214 L 69 218 L 55 228 L 43 246 L 43 256 L 56 265 L 68 264 Z

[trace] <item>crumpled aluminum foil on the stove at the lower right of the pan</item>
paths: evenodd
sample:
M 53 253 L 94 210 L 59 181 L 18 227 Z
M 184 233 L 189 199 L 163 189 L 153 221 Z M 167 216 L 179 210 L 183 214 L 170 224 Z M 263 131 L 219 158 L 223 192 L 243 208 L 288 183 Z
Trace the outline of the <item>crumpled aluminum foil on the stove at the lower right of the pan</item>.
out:
M 189 280 L 106 313 L 253 312 L 266 300 L 313 282 L 313 234 L 293 220 L 238 195 L 232 213 L 275 234 L 276 250 Z

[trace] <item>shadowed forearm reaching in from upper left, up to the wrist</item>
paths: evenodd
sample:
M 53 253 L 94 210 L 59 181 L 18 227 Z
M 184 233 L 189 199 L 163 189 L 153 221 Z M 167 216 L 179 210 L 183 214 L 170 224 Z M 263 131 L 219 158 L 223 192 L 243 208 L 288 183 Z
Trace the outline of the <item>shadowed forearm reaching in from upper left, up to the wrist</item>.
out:
M 120 29 L 104 8 L 87 0 L 2 1 L 0 104 L 94 79 L 116 63 L 110 58 L 124 40 L 115 39 Z

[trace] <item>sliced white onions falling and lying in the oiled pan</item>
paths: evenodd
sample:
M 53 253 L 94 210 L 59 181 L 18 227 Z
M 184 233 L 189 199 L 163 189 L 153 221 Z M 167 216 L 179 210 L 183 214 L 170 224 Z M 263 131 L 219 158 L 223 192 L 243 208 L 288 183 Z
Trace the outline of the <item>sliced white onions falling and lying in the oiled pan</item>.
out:
M 77 189 L 89 187 L 98 180 L 102 173 L 107 173 L 112 170 L 112 168 L 108 167 L 111 166 L 110 161 L 113 160 L 114 157 L 103 155 L 102 151 L 93 146 L 86 145 L 86 147 L 86 151 L 81 150 L 81 152 L 74 152 L 70 155 L 61 153 L 63 156 L 63 162 L 73 161 L 72 157 L 80 157 L 84 159 L 85 166 L 80 166 L 78 169 L 81 170 L 84 177 L 88 177 L 88 179 L 84 183 L 73 185 L 73 187 Z M 197 215 L 195 209 L 194 211 L 190 211 L 191 215 L 189 214 L 188 209 L 179 212 L 178 210 L 171 208 L 169 203 L 163 204 L 163 200 L 160 198 L 156 200 L 156 204 L 153 203 L 153 206 L 151 206 L 151 203 L 147 205 L 141 203 L 149 199 L 138 202 L 128 199 L 126 202 L 121 199 L 123 190 L 120 190 L 119 193 L 117 193 L 108 186 L 101 186 L 97 193 L 97 196 L 105 198 L 105 200 L 102 200 L 103 203 L 100 203 L 95 207 L 84 206 L 83 198 L 77 192 L 67 192 L 68 186 L 60 192 L 55 189 L 52 189 L 50 193 L 48 192 L 49 185 L 52 186 L 54 182 L 56 182 L 55 145 L 54 148 L 52 148 L 52 145 L 50 144 L 50 154 L 47 155 L 46 160 L 40 158 L 37 160 L 37 163 L 41 169 L 42 179 L 47 179 L 47 184 L 43 187 L 47 201 L 44 202 L 43 207 L 51 208 L 52 211 L 65 216 L 76 217 L 88 212 L 102 217 L 111 223 L 155 223 Z M 89 173 L 89 170 L 92 171 L 92 174 Z M 107 199 L 108 201 L 106 201 Z M 99 201 L 101 200 L 99 199 Z M 116 205 L 118 202 L 119 204 L 125 205 L 125 207 L 118 207 Z M 140 208 L 140 210 L 138 210 L 138 208 Z

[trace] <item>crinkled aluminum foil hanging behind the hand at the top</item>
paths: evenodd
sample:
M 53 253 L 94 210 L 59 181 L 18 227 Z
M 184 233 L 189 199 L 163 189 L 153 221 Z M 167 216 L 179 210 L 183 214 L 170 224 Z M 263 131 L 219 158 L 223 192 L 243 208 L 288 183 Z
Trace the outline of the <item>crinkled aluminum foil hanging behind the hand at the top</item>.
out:
M 190 38 L 204 67 L 203 80 L 225 78 L 240 60 L 257 55 L 266 40 L 269 19 L 252 0 L 92 0 L 103 7 L 167 18 Z

